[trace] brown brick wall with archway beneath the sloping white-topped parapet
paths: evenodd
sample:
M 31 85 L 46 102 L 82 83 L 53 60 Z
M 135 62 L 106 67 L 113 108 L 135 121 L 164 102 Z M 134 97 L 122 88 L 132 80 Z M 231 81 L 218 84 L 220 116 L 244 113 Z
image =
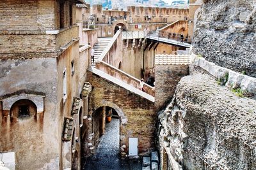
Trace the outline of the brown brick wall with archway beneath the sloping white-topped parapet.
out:
M 93 86 L 89 99 L 89 117 L 92 117 L 93 111 L 101 106 L 109 106 L 117 113 L 120 111 L 124 113 L 120 124 L 121 156 L 128 155 L 129 137 L 138 138 L 139 155 L 149 154 L 154 150 L 154 131 L 157 119 L 154 103 L 91 72 L 88 72 L 87 76 Z

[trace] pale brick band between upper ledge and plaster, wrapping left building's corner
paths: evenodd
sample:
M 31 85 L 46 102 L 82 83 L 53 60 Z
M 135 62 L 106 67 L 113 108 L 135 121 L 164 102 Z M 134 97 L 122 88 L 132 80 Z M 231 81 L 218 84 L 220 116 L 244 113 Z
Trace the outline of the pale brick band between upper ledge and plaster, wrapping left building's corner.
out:
M 45 34 L 45 31 L 3 31 L 0 34 L 0 58 L 57 57 L 61 46 L 78 39 L 78 27 Z M 22 53 L 19 55 L 19 53 Z M 27 57 L 26 57 L 27 58 Z

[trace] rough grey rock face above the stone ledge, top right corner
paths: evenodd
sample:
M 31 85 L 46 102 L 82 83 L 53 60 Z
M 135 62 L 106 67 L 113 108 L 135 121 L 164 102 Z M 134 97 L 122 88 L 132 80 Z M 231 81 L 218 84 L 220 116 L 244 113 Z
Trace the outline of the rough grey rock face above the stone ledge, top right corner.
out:
M 194 52 L 219 66 L 256 77 L 256 1 L 204 1 Z

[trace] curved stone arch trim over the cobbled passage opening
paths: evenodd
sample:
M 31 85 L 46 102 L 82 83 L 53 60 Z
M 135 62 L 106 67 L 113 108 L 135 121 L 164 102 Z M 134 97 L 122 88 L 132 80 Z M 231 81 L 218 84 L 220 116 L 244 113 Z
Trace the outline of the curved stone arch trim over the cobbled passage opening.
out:
M 98 103 L 98 106 L 95 106 L 94 111 L 96 111 L 98 108 L 102 106 L 108 106 L 109 108 L 113 108 L 116 113 L 118 114 L 118 117 L 120 117 L 120 121 L 122 125 L 126 125 L 128 122 L 127 117 L 125 116 L 124 112 L 122 111 L 119 106 L 117 106 L 115 103 L 111 103 L 109 101 L 102 100 L 100 103 Z

